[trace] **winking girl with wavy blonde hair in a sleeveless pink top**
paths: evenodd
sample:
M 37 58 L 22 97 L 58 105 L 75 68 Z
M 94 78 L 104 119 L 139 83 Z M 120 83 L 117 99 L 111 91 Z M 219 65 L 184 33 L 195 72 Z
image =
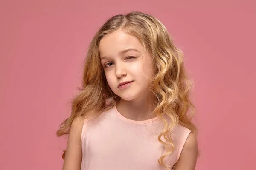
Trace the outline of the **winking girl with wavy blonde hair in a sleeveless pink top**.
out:
M 194 170 L 191 88 L 159 20 L 113 16 L 90 44 L 81 92 L 57 131 L 69 134 L 63 170 Z

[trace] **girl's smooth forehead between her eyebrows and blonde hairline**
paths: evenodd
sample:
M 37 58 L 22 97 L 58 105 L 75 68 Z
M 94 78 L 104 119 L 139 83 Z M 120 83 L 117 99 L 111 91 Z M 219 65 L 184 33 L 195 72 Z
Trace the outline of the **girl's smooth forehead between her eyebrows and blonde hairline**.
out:
M 99 42 L 100 57 L 117 56 L 121 51 L 128 48 L 134 48 L 140 52 L 144 50 L 143 45 L 136 37 L 122 30 L 105 35 Z

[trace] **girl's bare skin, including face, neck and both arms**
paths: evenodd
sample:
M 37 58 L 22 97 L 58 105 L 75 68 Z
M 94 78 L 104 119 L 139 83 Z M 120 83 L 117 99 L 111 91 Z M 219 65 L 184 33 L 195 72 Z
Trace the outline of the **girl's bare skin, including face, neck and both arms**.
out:
M 136 50 L 122 52 L 129 48 Z M 108 84 L 111 90 L 121 97 L 120 102 L 116 105 L 119 113 L 128 119 L 137 121 L 153 118 L 154 115 L 148 117 L 152 109 L 146 90 L 147 77 L 152 76 L 151 56 L 147 51 L 144 56 L 142 55 L 144 48 L 140 41 L 136 37 L 118 30 L 102 38 L 99 51 Z M 125 89 L 118 88 L 118 84 L 125 81 L 134 82 Z M 78 117 L 74 119 L 70 127 L 63 170 L 81 169 L 83 124 L 84 117 Z M 197 138 L 194 133 L 190 133 L 175 170 L 195 170 L 197 154 Z

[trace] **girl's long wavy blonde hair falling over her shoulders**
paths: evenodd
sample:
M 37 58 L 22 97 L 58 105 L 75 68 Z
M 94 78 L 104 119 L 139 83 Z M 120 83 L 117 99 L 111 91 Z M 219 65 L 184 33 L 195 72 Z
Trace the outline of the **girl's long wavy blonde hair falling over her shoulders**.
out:
M 151 54 L 154 76 L 151 77 L 148 90 L 153 96 L 153 112 L 164 125 L 158 140 L 166 149 L 158 162 L 170 170 L 172 167 L 164 164 L 164 158 L 174 151 L 171 133 L 178 124 L 196 133 L 196 126 L 192 122 L 196 109 L 189 99 L 192 81 L 184 68 L 183 52 L 174 44 L 166 27 L 150 14 L 139 11 L 119 14 L 101 26 L 87 51 L 82 85 L 73 98 L 71 116 L 61 123 L 56 134 L 68 134 L 73 120 L 77 117 L 87 117 L 89 113 L 99 116 L 120 100 L 108 85 L 99 57 L 99 42 L 102 37 L 119 29 L 137 37 Z

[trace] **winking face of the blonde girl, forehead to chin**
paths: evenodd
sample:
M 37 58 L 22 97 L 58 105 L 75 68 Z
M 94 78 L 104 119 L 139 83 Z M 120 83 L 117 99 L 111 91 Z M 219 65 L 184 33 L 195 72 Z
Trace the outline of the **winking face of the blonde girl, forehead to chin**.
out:
M 105 35 L 99 43 L 101 64 L 111 90 L 131 101 L 147 93 L 152 76 L 151 56 L 140 41 L 122 30 Z M 120 83 L 129 82 L 125 85 Z

